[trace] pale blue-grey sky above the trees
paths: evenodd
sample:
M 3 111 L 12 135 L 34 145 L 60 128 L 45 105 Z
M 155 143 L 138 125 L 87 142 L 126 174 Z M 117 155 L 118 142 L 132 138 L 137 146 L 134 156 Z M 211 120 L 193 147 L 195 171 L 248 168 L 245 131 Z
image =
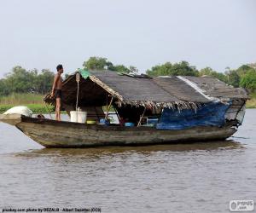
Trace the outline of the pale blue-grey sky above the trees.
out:
M 255 0 L 1 0 L 0 78 L 17 65 L 70 73 L 90 56 L 224 72 L 256 62 L 255 22 Z

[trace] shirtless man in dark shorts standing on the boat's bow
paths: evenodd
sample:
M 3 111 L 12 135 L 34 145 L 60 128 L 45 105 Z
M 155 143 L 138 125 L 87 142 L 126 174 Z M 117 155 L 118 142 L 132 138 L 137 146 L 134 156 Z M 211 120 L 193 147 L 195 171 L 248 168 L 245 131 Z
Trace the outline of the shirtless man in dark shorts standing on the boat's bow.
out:
M 56 99 L 56 106 L 55 106 L 55 115 L 56 120 L 61 121 L 61 88 L 62 88 L 62 78 L 61 74 L 63 73 L 63 66 L 58 65 L 57 67 L 57 74 L 55 74 L 55 80 L 51 90 L 51 97 L 55 97 Z

